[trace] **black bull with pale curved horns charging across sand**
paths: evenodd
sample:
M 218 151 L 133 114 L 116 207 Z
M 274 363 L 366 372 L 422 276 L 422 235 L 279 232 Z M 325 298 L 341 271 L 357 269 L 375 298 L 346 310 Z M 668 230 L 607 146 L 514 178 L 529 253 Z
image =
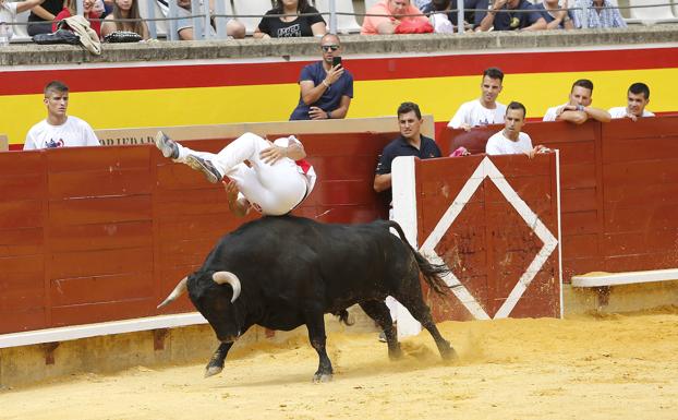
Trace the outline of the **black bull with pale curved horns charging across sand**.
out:
M 221 341 L 206 376 L 223 369 L 234 340 L 252 325 L 290 331 L 305 324 L 319 357 L 314 381 L 326 381 L 332 367 L 325 351 L 325 313 L 348 324 L 346 309 L 360 304 L 384 328 L 389 357 L 401 355 L 384 303 L 389 295 L 428 329 L 444 359 L 455 357 L 424 303 L 420 272 L 433 290 L 447 290 L 439 277 L 446 269 L 412 249 L 395 221 L 330 225 L 293 216 L 263 217 L 221 238 L 203 266 L 182 279 L 158 308 L 187 288 Z

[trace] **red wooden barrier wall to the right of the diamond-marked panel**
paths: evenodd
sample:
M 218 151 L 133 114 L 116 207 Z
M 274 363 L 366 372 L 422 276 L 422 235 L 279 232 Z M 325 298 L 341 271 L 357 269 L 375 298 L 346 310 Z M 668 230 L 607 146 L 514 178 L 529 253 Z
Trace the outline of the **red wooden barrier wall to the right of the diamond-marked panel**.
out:
M 500 125 L 448 130 L 446 151 L 483 153 Z M 530 122 L 534 144 L 560 151 L 562 272 L 678 266 L 678 117 L 637 122 Z

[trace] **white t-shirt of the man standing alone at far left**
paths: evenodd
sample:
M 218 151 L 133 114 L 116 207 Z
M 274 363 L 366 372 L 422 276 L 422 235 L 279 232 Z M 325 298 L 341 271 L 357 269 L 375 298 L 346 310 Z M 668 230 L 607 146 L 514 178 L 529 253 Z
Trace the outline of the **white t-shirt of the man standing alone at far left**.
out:
M 61 125 L 43 120 L 33 125 L 26 134 L 24 151 L 52 147 L 98 146 L 94 130 L 77 117 L 69 116 Z

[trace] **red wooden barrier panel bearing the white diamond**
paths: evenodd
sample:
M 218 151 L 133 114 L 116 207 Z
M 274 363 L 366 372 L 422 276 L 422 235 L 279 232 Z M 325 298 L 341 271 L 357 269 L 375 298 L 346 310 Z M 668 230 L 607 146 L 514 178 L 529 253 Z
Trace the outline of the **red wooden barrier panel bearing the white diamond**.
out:
M 460 285 L 427 291 L 437 321 L 560 316 L 556 173 L 555 154 L 415 160 L 419 247 Z

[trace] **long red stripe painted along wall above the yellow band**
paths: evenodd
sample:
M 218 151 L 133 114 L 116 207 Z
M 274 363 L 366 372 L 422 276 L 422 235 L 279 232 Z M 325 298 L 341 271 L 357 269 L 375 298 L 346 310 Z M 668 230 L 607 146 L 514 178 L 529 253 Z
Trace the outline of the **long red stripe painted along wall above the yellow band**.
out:
M 73 92 L 134 91 L 295 83 L 308 61 L 149 65 L 0 72 L 0 95 L 38 94 L 50 80 Z M 569 52 L 514 52 L 462 56 L 350 59 L 356 81 L 464 76 L 499 67 L 505 73 L 549 73 L 678 68 L 678 48 Z

